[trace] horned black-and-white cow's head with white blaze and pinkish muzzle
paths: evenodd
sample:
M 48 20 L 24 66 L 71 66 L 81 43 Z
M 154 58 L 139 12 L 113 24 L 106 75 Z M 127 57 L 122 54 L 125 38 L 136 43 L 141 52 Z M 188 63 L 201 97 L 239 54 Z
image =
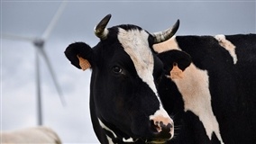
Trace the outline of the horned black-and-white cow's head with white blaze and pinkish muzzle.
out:
M 174 35 L 179 22 L 149 33 L 130 24 L 105 28 L 110 17 L 96 25 L 100 41 L 93 49 L 75 42 L 65 51 L 75 67 L 92 69 L 90 111 L 96 135 L 101 143 L 165 142 L 173 137 L 174 123 L 160 102 L 156 85 L 163 65 L 152 45 Z

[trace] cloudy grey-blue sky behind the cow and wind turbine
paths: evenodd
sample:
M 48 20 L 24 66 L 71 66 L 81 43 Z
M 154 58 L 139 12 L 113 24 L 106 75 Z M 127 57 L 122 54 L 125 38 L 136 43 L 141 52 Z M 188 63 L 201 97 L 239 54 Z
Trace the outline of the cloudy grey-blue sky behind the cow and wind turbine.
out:
M 130 23 L 150 32 L 166 30 L 177 19 L 177 35 L 256 31 L 255 0 L 75 0 L 62 5 L 56 18 L 61 4 L 59 0 L 1 1 L 1 130 L 38 124 L 36 67 L 40 66 L 42 125 L 57 131 L 64 143 L 98 143 L 89 114 L 91 72 L 73 67 L 63 52 L 75 41 L 95 46 L 94 27 L 106 14 L 112 14 L 108 27 Z M 59 19 L 50 25 L 53 17 Z M 40 45 L 41 38 L 44 48 L 37 57 L 39 47 L 34 43 Z M 50 61 L 65 106 L 59 101 L 45 58 Z

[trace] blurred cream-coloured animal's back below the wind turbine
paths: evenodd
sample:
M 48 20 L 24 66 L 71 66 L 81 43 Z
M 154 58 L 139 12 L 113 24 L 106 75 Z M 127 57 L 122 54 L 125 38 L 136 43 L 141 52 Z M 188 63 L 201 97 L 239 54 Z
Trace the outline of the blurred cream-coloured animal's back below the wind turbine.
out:
M 38 126 L 20 130 L 1 131 L 1 143 L 61 144 L 58 134 L 49 127 Z

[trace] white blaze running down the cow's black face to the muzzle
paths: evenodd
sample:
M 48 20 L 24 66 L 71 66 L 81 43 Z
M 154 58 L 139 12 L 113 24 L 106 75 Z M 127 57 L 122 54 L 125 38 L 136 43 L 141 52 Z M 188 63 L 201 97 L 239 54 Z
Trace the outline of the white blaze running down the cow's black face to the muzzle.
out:
M 124 51 L 133 60 L 134 67 L 138 76 L 142 78 L 142 81 L 151 87 L 151 90 L 157 96 L 159 102 L 160 97 L 158 95 L 154 77 L 154 59 L 149 46 L 149 34 L 146 31 L 132 30 L 125 31 L 119 29 L 118 40 L 122 43 Z M 163 109 L 160 103 L 160 109 L 155 114 L 161 114 L 164 117 L 169 117 L 168 113 Z M 154 114 L 154 115 L 155 115 Z

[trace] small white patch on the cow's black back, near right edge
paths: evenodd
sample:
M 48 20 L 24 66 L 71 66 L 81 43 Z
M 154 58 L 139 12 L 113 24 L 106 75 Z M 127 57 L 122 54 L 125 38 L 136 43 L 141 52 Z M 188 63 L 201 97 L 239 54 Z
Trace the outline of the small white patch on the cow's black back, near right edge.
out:
M 233 45 L 233 43 L 229 40 L 226 40 L 223 34 L 216 35 L 215 39 L 218 40 L 219 44 L 229 52 L 229 54 L 233 58 L 233 64 L 235 65 L 237 62 L 237 56 L 235 54 L 235 46 Z

